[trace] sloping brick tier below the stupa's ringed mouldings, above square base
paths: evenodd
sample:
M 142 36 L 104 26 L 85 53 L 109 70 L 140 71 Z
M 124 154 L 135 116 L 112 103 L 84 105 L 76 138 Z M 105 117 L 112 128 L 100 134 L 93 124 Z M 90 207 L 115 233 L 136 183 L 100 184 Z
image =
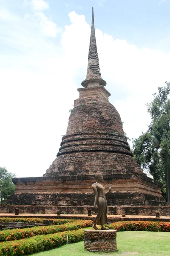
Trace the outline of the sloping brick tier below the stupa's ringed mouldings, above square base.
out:
M 99 145 L 98 145 L 99 148 Z M 44 176 L 86 176 L 97 171 L 103 175 L 119 173 L 143 173 L 133 157 L 108 151 L 71 152 L 57 157 Z M 85 177 L 83 177 L 85 179 Z

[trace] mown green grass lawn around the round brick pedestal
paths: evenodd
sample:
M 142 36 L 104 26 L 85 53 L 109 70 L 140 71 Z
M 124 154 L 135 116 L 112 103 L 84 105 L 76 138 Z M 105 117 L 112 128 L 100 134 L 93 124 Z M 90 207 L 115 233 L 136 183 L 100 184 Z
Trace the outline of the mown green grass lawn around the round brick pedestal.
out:
M 170 233 L 125 231 L 117 233 L 116 253 L 90 253 L 84 250 L 84 241 L 35 253 L 34 256 L 170 256 Z

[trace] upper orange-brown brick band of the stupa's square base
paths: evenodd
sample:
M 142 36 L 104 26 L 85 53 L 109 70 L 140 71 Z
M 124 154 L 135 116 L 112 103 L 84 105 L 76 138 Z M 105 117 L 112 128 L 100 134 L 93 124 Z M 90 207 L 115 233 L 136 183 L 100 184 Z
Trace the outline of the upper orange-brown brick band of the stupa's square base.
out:
M 122 200 L 126 200 L 126 194 L 130 195 L 130 199 L 136 200 L 156 200 L 164 201 L 161 196 L 161 183 L 152 182 L 152 179 L 142 173 L 119 173 L 103 175 L 106 191 L 108 186 L 112 184 L 112 197 L 117 198 L 118 195 Z M 77 196 L 82 199 L 81 195 L 92 194 L 92 184 L 95 182 L 94 175 L 60 175 L 59 177 L 32 177 L 32 178 L 14 178 L 13 182 L 17 185 L 15 194 L 42 194 L 40 200 L 45 198 L 45 194 L 70 194 L 70 198 L 77 200 Z M 68 190 L 69 188 L 69 190 Z M 135 198 L 136 193 L 136 198 Z M 145 194 L 139 198 L 139 193 Z M 43 195 L 44 194 L 44 195 Z M 58 196 L 58 195 L 57 195 Z M 63 196 L 63 195 L 62 195 Z M 22 198 L 23 199 L 23 198 Z M 109 196 L 109 200 L 111 196 Z M 85 200 L 85 197 L 84 197 Z M 83 204 L 83 203 L 82 203 Z

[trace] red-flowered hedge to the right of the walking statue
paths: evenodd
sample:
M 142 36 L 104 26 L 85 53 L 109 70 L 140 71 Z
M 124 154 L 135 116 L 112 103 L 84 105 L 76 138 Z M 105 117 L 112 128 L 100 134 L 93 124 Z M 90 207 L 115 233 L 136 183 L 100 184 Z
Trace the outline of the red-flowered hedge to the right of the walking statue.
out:
M 159 221 L 119 221 L 107 225 L 109 229 L 117 231 L 161 231 L 170 232 L 170 222 L 159 222 Z

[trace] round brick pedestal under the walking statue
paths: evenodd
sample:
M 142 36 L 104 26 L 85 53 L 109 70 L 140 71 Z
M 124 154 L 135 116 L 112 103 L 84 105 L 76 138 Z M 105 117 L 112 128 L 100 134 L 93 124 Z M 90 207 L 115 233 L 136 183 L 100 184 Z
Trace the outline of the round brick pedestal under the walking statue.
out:
M 90 252 L 116 252 L 116 230 L 85 230 L 85 249 Z

